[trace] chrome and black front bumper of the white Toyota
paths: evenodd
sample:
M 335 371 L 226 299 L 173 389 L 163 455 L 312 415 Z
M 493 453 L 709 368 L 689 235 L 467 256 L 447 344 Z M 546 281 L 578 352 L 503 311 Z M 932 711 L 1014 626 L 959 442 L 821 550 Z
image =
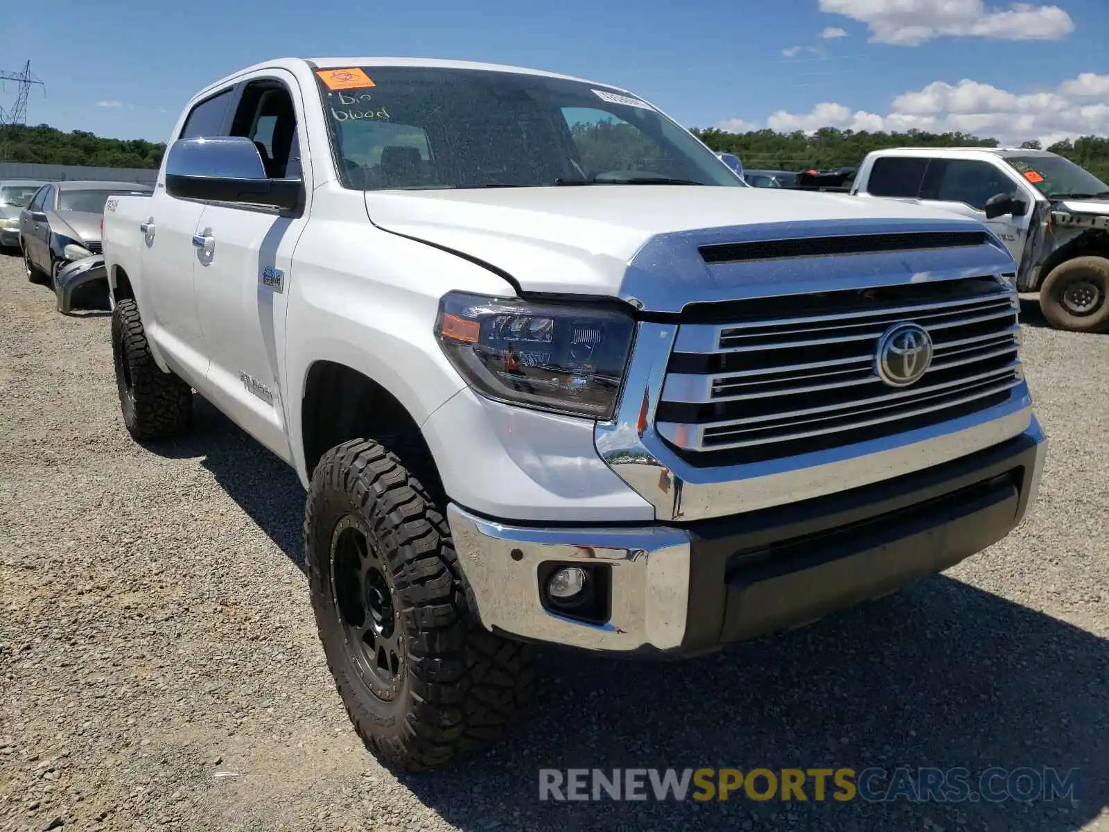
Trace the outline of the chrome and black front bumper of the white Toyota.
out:
M 1015 439 L 943 466 L 690 527 L 528 528 L 457 505 L 448 519 L 486 628 L 589 650 L 692 655 L 805 623 L 980 551 L 1024 519 L 1046 453 L 1034 418 Z M 545 608 L 540 566 L 551 561 L 610 567 L 608 621 Z

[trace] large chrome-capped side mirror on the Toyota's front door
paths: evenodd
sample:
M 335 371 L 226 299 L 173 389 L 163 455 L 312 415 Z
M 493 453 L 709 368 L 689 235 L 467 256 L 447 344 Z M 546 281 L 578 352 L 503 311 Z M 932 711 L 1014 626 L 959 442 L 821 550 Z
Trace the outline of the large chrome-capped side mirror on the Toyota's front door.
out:
M 269 179 L 246 136 L 179 139 L 165 160 L 165 192 L 183 200 L 295 211 L 304 199 L 304 182 Z

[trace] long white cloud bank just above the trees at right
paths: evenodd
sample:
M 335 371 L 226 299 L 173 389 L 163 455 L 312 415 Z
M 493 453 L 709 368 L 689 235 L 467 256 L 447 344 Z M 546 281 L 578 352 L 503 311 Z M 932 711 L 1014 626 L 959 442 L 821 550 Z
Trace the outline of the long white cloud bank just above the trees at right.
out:
M 1109 90 L 1109 74 L 1092 72 L 1064 81 L 1054 90 L 1024 93 L 970 79 L 956 84 L 934 81 L 897 95 L 892 111 L 885 115 L 824 101 L 807 113 L 779 110 L 766 120 L 766 125 L 783 133 L 795 130 L 812 133 L 820 128 L 959 131 L 994 138 L 1004 144 L 1038 139 L 1046 148 L 1062 139 L 1109 133 L 1109 97 L 1102 93 L 1103 90 Z M 755 129 L 725 126 L 733 123 L 750 124 L 733 119 L 722 121 L 720 129 L 734 132 Z

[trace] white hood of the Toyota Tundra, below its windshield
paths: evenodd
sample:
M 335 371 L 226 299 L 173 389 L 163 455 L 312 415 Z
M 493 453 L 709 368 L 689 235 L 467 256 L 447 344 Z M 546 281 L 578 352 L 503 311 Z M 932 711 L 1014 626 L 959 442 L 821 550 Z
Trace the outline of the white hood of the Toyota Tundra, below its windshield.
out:
M 755 187 L 596 185 L 462 191 L 367 191 L 370 221 L 508 273 L 525 292 L 620 297 L 632 258 L 649 243 L 655 271 L 709 281 L 696 245 L 852 233 L 981 227 L 974 220 L 896 200 Z M 694 237 L 696 239 L 694 241 Z M 683 240 L 688 242 L 683 243 Z M 683 251 L 680 251 L 683 250 Z M 693 260 L 701 274 L 691 274 Z M 639 261 L 637 260 L 637 263 Z M 681 294 L 693 286 L 670 286 Z

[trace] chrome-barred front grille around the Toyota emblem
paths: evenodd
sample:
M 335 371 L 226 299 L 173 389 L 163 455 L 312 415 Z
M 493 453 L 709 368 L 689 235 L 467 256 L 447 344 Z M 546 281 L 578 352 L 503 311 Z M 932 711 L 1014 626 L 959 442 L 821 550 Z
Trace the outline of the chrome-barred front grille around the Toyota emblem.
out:
M 924 427 L 1000 404 L 1022 382 L 1016 292 L 994 277 L 781 296 L 683 323 L 655 414 L 694 465 L 762 461 Z M 892 387 L 878 339 L 912 322 L 928 371 Z

